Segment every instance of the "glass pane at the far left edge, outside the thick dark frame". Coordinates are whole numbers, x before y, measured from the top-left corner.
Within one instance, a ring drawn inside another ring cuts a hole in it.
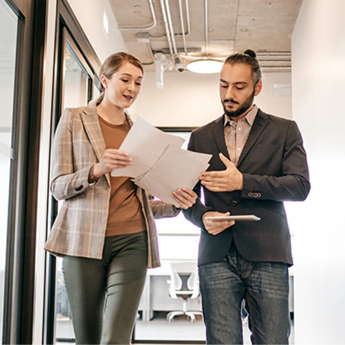
[[[4,0],[0,0],[0,338],[2,339],[4,276],[11,187],[14,72],[16,64],[18,18]]]

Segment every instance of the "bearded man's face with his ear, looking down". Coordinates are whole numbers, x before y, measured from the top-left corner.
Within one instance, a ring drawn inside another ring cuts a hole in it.
[[[220,98],[224,112],[238,121],[245,117],[253,105],[254,96],[262,89],[262,82],[253,86],[250,67],[244,63],[226,63],[220,71]]]

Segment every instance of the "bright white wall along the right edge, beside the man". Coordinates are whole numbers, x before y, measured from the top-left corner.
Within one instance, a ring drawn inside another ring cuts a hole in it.
[[[344,0],[304,0],[292,36],[293,118],[312,185],[292,219],[296,345],[345,343],[344,13]]]

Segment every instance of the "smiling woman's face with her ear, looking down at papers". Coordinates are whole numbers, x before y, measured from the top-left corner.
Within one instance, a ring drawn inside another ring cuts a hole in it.
[[[130,107],[138,97],[142,78],[140,68],[129,62],[124,63],[109,79],[101,76],[105,88],[104,100],[120,109]]]

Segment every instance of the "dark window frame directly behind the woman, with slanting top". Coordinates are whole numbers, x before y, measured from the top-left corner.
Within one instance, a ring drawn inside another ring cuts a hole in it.
[[[69,42],[74,53],[82,62],[83,68],[90,77],[88,81],[88,101],[92,99],[95,81],[98,80],[98,73],[101,62],[93,50],[91,43],[86,37],[70,5],[65,0],[57,1],[56,17],[56,45],[54,58],[54,76],[52,93],[52,119],[51,119],[51,140],[52,141],[59,119],[62,115],[63,107],[63,88],[65,85],[65,54],[66,42]],[[51,161],[49,160],[49,165]],[[47,186],[49,189],[49,186]],[[56,218],[58,203],[49,193],[48,196],[48,214],[47,214],[47,237],[50,228]],[[45,329],[43,331],[43,341],[45,344],[55,344],[56,340],[63,342],[75,342],[75,339],[56,339],[56,318],[55,318],[55,296],[56,296],[56,257],[51,254],[46,255],[47,273],[46,273],[46,298],[45,298]]]

